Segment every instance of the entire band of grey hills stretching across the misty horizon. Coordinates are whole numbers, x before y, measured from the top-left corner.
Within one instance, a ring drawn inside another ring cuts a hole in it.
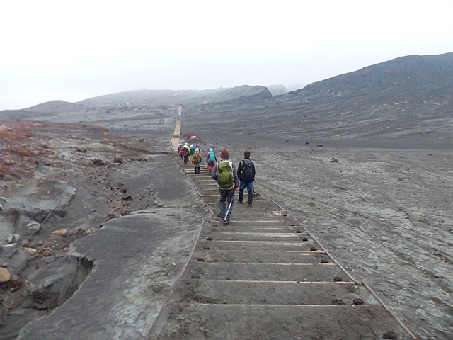
[[[130,91],[77,103],[52,101],[2,111],[1,116],[39,120],[52,115],[52,119],[84,124],[96,123],[96,113],[107,110],[112,120],[133,112],[139,123],[148,119],[147,108],[175,110],[183,104],[188,117],[185,127],[200,133],[210,130],[205,125],[222,124],[227,114],[234,119],[225,128],[238,134],[253,130],[268,137],[285,132],[290,139],[452,140],[453,52],[400,57],[284,92],[284,86],[247,85],[204,91]]]

